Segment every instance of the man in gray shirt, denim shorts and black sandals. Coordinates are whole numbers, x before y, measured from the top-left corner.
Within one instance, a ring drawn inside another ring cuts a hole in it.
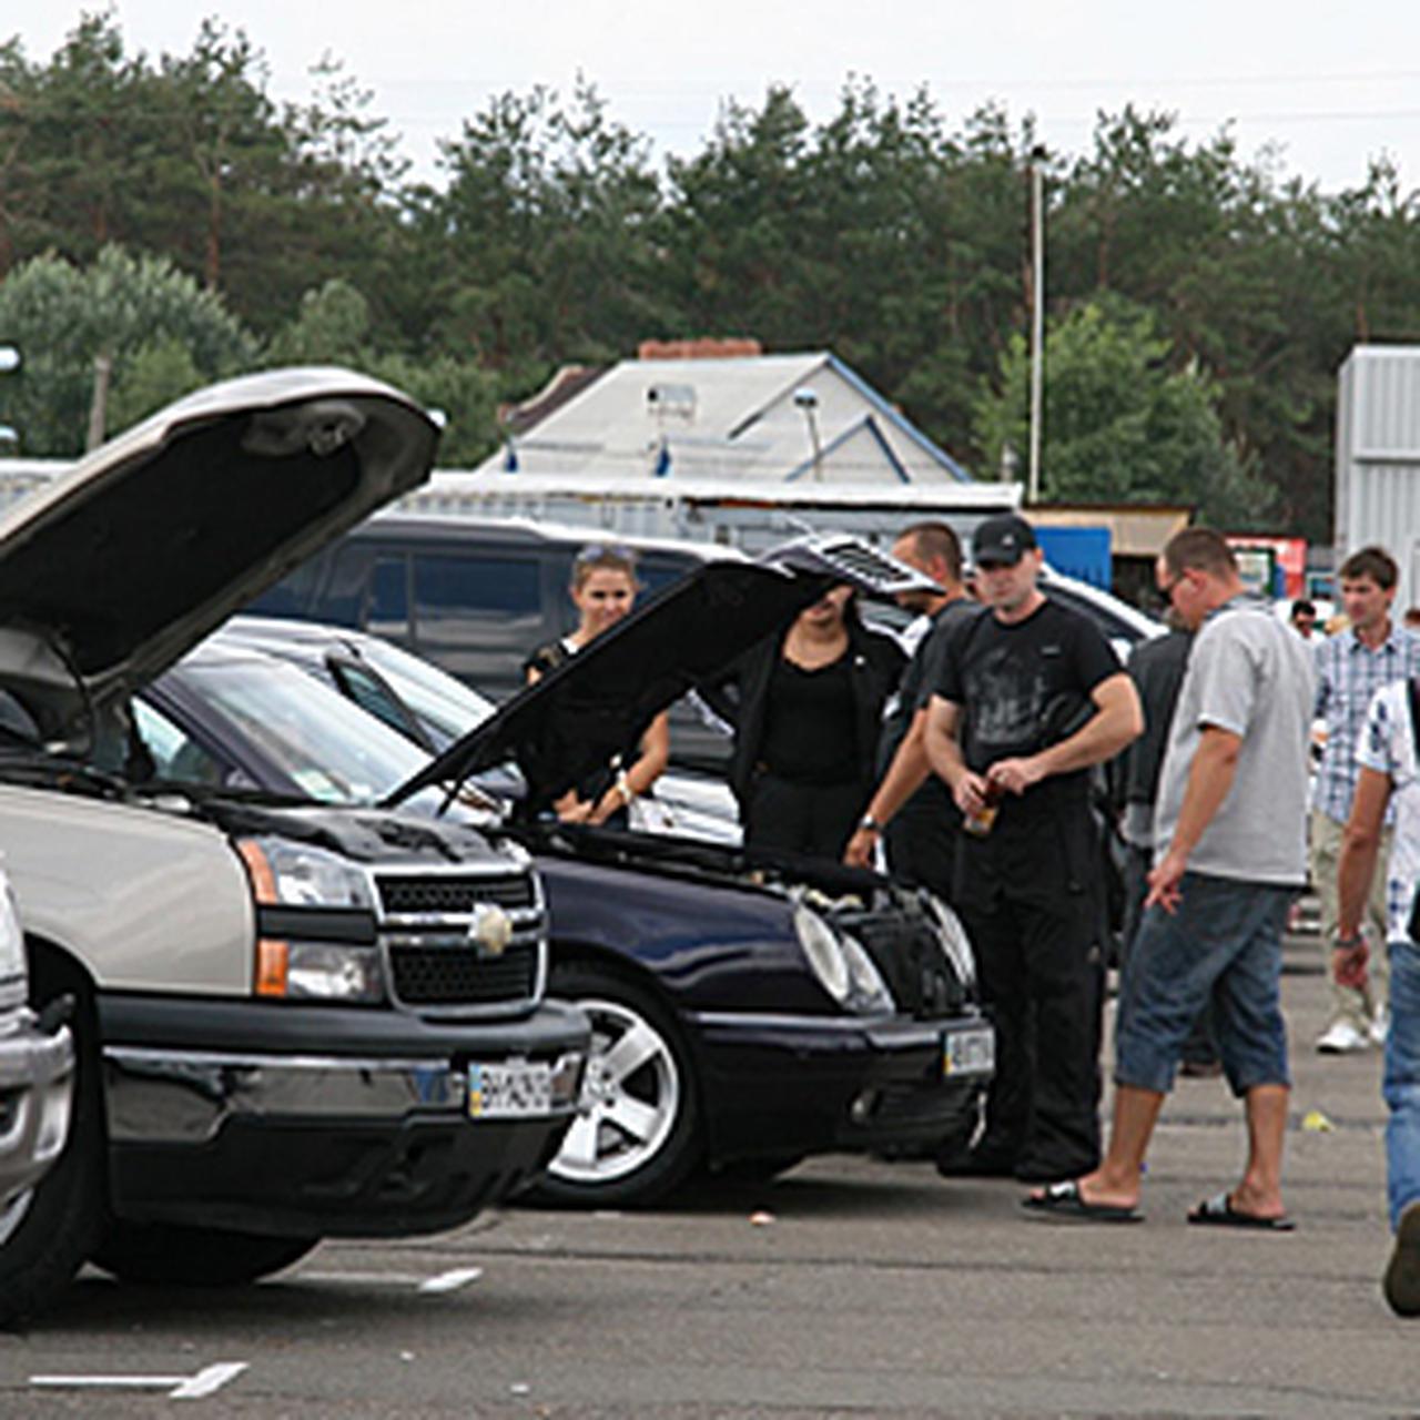
[[[1206,1198],[1189,1221],[1287,1231],[1291,1081],[1279,985],[1287,909],[1306,876],[1311,660],[1244,595],[1217,532],[1170,538],[1156,575],[1180,618],[1201,629],[1164,754],[1149,897],[1120,991],[1115,1125],[1099,1169],[1025,1206],[1139,1218],[1149,1139],[1189,1028],[1211,998],[1223,1069],[1245,1100],[1248,1160],[1237,1187]]]

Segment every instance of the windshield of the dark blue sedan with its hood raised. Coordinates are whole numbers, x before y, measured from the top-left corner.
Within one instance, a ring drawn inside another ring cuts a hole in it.
[[[310,676],[280,662],[187,667],[189,684],[287,778],[322,804],[373,804],[429,755]]]

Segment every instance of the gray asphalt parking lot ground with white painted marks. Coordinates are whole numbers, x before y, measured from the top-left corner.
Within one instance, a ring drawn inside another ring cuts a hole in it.
[[[1322,1058],[1315,937],[1288,943],[1294,1234],[1189,1227],[1242,1154],[1183,1081],[1142,1225],[1032,1218],[1008,1181],[831,1157],[646,1213],[510,1208],[329,1242],[258,1287],[87,1272],[0,1336],[0,1414],[710,1416],[1420,1413],[1420,1323],[1386,1309],[1380,1056]]]

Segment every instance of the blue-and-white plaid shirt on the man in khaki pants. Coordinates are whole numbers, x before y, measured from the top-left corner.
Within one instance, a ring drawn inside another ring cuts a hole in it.
[[[1356,747],[1372,696],[1411,676],[1420,676],[1420,638],[1402,626],[1392,626],[1375,650],[1353,630],[1328,636],[1316,648],[1316,714],[1326,720],[1326,748],[1316,770],[1312,807],[1338,824],[1350,816],[1359,772]]]

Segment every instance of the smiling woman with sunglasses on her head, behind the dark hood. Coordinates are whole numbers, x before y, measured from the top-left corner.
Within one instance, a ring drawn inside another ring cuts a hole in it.
[[[535,684],[577,652],[591,645],[630,612],[640,584],[636,581],[636,557],[630,548],[589,544],[572,562],[569,595],[577,608],[577,629],[561,640],[538,646],[523,663],[528,684]],[[594,733],[589,723],[562,727],[564,736]],[[670,727],[665,711],[656,716],[640,737],[638,750],[625,760],[619,746],[608,744],[596,768],[569,790],[551,799],[551,808],[564,824],[611,824],[623,828],[630,821],[630,807],[649,795],[670,758]]]

